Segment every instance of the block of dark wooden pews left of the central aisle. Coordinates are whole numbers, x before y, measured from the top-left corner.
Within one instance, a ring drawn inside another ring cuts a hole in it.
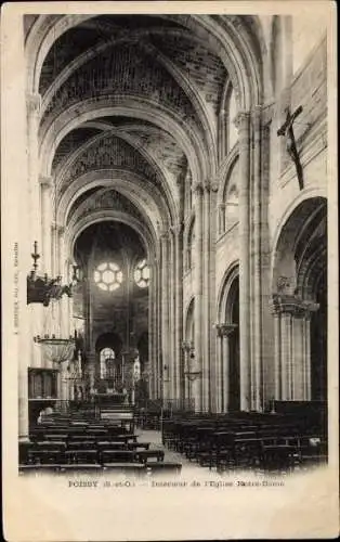
[[[165,452],[140,442],[139,436],[109,422],[54,416],[30,429],[29,442],[19,443],[19,470],[122,472],[181,470],[181,463],[165,462]]]

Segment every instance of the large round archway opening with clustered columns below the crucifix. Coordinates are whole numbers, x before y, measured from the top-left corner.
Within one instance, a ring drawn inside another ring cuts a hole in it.
[[[284,224],[274,264],[276,398],[327,401],[327,201],[301,202]],[[288,345],[288,348],[287,348]]]

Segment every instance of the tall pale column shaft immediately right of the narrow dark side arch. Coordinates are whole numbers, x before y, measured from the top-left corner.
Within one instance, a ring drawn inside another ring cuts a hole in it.
[[[250,184],[250,127],[249,113],[241,112],[236,119],[239,144],[239,358],[240,410],[251,408],[250,360],[250,282],[249,282],[249,184]]]

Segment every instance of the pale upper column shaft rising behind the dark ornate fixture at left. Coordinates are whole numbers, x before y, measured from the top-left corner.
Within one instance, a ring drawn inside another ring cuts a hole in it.
[[[52,273],[52,241],[51,241],[51,222],[52,222],[52,188],[53,181],[51,177],[39,177],[41,191],[41,250],[42,250],[42,269],[49,276]]]

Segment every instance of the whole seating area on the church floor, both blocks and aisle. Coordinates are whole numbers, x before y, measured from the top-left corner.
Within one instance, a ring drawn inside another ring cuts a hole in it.
[[[273,405],[274,406],[274,405]],[[110,420],[91,409],[45,414],[19,444],[19,473],[199,476],[251,470],[286,475],[327,463],[325,414],[301,403],[276,404],[282,413],[171,415],[110,410]],[[287,408],[288,406],[288,408]],[[286,411],[286,412],[285,412]]]

